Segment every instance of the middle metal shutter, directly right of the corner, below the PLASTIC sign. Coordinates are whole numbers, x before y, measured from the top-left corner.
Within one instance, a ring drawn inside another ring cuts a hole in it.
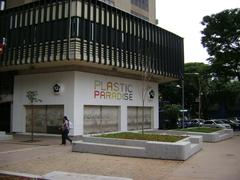
[[[119,107],[84,106],[84,134],[118,131]]]

